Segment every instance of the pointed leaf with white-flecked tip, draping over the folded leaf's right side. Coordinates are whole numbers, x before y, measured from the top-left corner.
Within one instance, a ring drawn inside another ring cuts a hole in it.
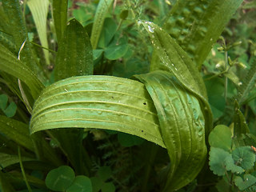
[[[198,97],[207,122],[206,133],[209,133],[213,121],[212,113],[207,102],[206,86],[193,61],[165,30],[153,22],[142,22],[142,24],[150,34],[154,50],[162,61],[158,66],[154,66],[154,70],[165,70],[174,74],[182,86]]]

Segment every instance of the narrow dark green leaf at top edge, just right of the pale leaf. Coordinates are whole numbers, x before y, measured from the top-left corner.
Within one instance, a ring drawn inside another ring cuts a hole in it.
[[[62,34],[66,28],[68,0],[53,1],[54,26],[58,42],[62,40]]]

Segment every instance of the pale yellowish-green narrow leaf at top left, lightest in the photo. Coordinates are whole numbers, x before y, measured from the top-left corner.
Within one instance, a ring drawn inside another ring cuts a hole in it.
[[[29,0],[27,5],[30,7],[34,18],[34,24],[38,30],[40,42],[42,46],[48,49],[46,23],[50,2],[49,0]],[[50,65],[49,51],[44,49],[43,53],[45,54],[46,64]]]

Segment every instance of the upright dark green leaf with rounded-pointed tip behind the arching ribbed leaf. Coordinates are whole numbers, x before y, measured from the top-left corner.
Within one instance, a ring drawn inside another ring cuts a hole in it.
[[[94,58],[86,30],[72,19],[59,43],[55,65],[55,80],[93,74]]]

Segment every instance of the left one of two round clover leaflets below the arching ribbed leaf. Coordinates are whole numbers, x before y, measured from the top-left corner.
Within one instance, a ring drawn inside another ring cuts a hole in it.
[[[46,186],[50,190],[64,191],[74,182],[74,170],[70,166],[59,166],[46,176]]]

